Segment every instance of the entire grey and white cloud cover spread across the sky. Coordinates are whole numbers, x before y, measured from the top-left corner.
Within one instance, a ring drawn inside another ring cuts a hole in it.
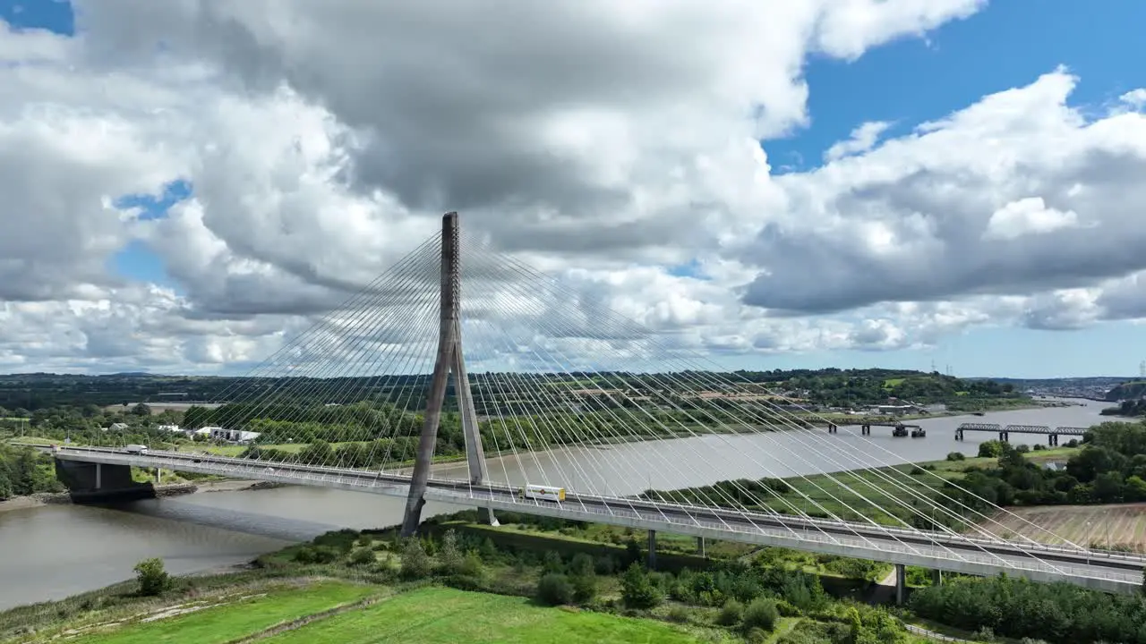
[[[823,167],[772,174],[768,141],[810,123],[809,55],[851,60],[983,0],[74,5],[77,38],[0,23],[3,370],[248,364],[447,210],[474,244],[466,312],[489,368],[1146,314],[1127,277],[1146,269],[1135,92],[1089,119],[1055,70],[897,138],[857,124]],[[162,215],[120,202],[173,181],[191,195]],[[132,243],[170,284],[109,269]],[[477,261],[494,251],[576,293]]]

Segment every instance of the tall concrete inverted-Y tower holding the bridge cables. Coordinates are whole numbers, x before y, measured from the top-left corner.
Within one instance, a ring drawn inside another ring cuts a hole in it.
[[[462,352],[462,322],[458,314],[461,304],[461,270],[458,262],[457,213],[447,212],[441,219],[441,294],[438,320],[438,356],[434,361],[430,394],[426,398],[425,422],[418,440],[418,451],[410,478],[410,494],[406,500],[406,517],[402,535],[410,536],[422,523],[425,505],[426,482],[433,448],[438,440],[441,407],[446,401],[449,377],[454,379],[454,393],[462,416],[462,432],[465,434],[465,457],[470,466],[470,482],[480,485],[486,478],[486,458],[481,449],[481,433],[478,431],[478,414],[473,408],[473,392],[465,372]],[[488,519],[494,523],[493,512]]]

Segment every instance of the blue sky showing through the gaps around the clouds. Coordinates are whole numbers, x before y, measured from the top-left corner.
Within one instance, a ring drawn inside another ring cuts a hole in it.
[[[55,0],[0,0],[0,18],[17,28],[71,33],[70,6]],[[814,57],[806,65],[810,88],[809,128],[782,140],[764,141],[775,172],[807,171],[822,163],[825,150],[869,120],[893,121],[885,136],[910,131],[975,102],[984,94],[1031,83],[1062,64],[1082,77],[1072,100],[1100,108],[1120,94],[1146,86],[1146,47],[1140,0],[1019,0],[992,2],[966,21],[949,23],[926,40],[903,39],[868,52],[854,62]],[[160,195],[124,195],[120,202],[163,217],[193,187],[174,183]],[[160,258],[141,244],[124,249],[111,266],[126,278],[178,288]],[[692,274],[696,267],[674,267]],[[1141,347],[1127,351],[1127,347]],[[976,329],[949,337],[934,350],[833,352],[830,354],[753,356],[745,368],[902,367],[957,375],[1051,377],[1131,375],[1146,359],[1146,327],[1108,323],[1082,331],[1033,331],[1018,328]]]

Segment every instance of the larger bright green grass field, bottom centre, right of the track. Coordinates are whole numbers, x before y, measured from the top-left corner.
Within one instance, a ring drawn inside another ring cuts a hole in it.
[[[672,626],[603,613],[545,608],[528,599],[449,588],[424,588],[267,638],[274,644],[685,644],[696,637]]]

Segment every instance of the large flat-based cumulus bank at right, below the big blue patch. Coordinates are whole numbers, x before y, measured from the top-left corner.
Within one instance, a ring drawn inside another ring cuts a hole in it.
[[[830,313],[1030,296],[1146,268],[1146,116],[1088,120],[1063,69],[869,152],[777,181],[791,207],[741,249],[748,304]]]

